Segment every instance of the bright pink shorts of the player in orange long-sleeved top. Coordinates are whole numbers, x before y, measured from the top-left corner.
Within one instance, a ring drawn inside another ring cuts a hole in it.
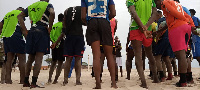
[[[173,52],[187,51],[188,42],[191,35],[191,26],[188,24],[176,27],[169,31],[169,42]]]

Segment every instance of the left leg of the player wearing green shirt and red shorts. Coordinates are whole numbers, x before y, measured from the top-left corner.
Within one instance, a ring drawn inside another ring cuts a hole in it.
[[[142,48],[141,48],[142,42],[141,41],[137,41],[137,40],[132,40],[131,44],[133,46],[133,51],[135,53],[136,69],[138,71],[140,80],[142,82],[141,87],[148,88],[146,80],[145,80],[145,76],[144,76],[144,70],[143,70]]]

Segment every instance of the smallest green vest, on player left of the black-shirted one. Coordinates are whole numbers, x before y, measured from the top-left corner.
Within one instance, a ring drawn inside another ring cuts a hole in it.
[[[50,38],[53,42],[56,42],[60,34],[62,33],[62,22],[57,22],[52,26],[52,30],[50,32]]]

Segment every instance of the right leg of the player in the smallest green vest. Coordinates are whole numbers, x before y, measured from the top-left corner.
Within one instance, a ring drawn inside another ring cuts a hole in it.
[[[58,60],[58,66],[57,66],[57,69],[56,69],[56,76],[55,76],[55,79],[54,79],[52,84],[58,83],[58,78],[59,78],[60,73],[62,71],[62,64],[63,64],[63,61],[62,60]]]

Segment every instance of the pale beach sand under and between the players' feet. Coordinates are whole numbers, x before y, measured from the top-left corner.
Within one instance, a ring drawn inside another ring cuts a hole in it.
[[[91,77],[91,70],[87,71],[86,69],[82,69],[81,74],[81,82],[83,85],[75,86],[75,70],[73,70],[72,77],[69,79],[69,83],[66,86],[62,86],[63,82],[63,72],[59,77],[57,84],[49,84],[47,85],[48,80],[48,70],[41,70],[39,79],[37,84],[42,86],[44,85],[45,88],[34,88],[32,90],[92,90],[95,87],[95,78]],[[169,80],[162,83],[151,83],[152,80],[147,76],[149,74],[149,70],[145,70],[145,78],[147,80],[147,84],[149,90],[200,90],[200,81],[197,81],[197,78],[200,76],[200,68],[192,68],[193,71],[193,78],[194,84],[189,84],[188,87],[175,87],[175,83],[178,82],[179,77],[174,77],[173,80]],[[139,85],[141,84],[139,80],[139,76],[137,74],[136,69],[132,69],[131,72],[131,80],[127,80],[126,78],[126,71],[124,70],[124,77],[119,77],[119,81],[117,82],[118,89],[117,90],[146,90],[141,88]],[[120,75],[120,73],[119,73]],[[32,76],[32,72],[31,72]],[[52,80],[54,80],[55,72],[53,75]],[[0,90],[29,90],[30,88],[24,88],[19,83],[19,71],[12,72],[12,80],[13,84],[0,84]],[[102,90],[114,90],[111,87],[111,79],[107,69],[104,69],[103,73],[103,83],[102,83]],[[31,81],[31,80],[30,80]]]

